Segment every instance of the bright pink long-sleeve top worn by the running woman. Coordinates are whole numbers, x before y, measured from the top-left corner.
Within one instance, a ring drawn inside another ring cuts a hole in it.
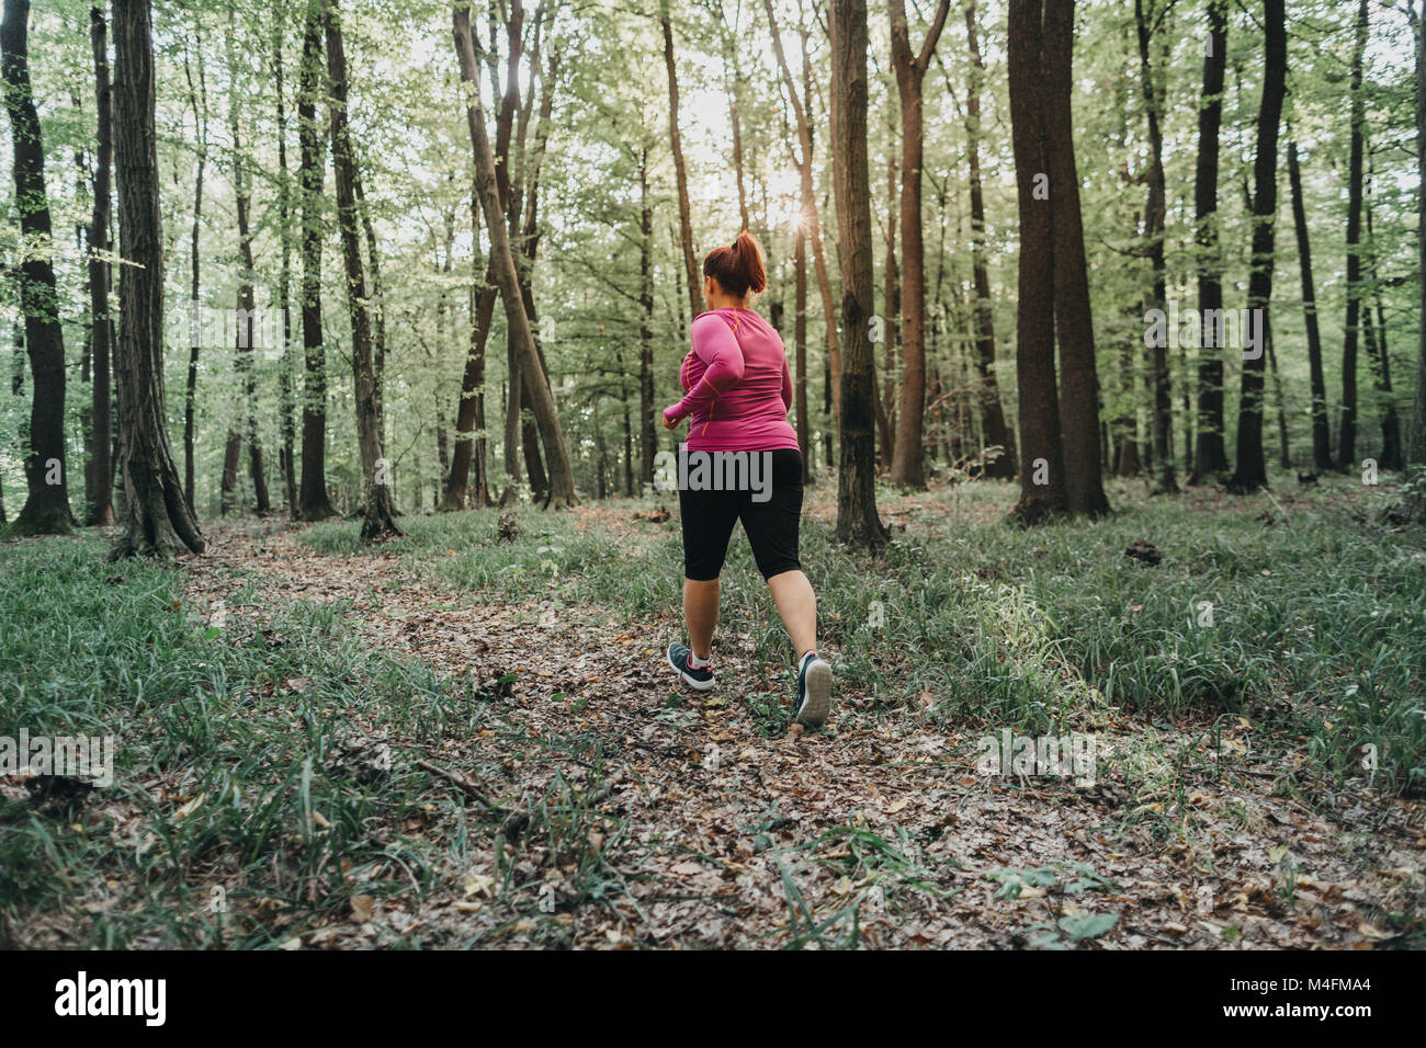
[[[663,416],[677,422],[692,415],[689,451],[799,449],[797,431],[787,423],[793,404],[787,348],[752,309],[699,314],[679,381],[683,399]]]

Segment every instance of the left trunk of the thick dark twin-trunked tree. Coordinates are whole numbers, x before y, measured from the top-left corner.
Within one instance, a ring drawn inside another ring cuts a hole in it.
[[[1020,202],[1015,365],[1020,385],[1020,502],[1011,519],[1040,523],[1065,509],[1060,398],[1055,385],[1054,217],[1045,155],[1047,96],[1041,0],[1011,0],[1010,120]]]

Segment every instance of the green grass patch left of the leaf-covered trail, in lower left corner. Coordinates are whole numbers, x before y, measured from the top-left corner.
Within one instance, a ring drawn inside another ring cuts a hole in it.
[[[0,800],[0,942],[50,908],[73,917],[68,945],[261,947],[352,894],[429,883],[439,848],[402,833],[425,773],[398,764],[371,790],[344,754],[355,723],[442,734],[443,683],[309,603],[210,627],[177,570],[103,553],[96,536],[4,550],[0,734],[110,734],[117,771],[83,821]]]

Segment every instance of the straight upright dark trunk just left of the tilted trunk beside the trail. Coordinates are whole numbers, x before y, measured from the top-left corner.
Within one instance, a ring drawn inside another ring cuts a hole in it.
[[[307,0],[298,81],[298,184],[302,194],[302,520],[335,516],[327,493],[327,346],[322,338],[322,183],[327,137],[317,104],[327,97],[322,70],[322,0]]]

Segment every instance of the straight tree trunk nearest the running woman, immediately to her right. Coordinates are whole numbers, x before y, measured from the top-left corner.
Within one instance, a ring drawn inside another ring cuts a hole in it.
[[[843,0],[829,10],[831,34],[833,190],[841,264],[840,472],[837,540],[878,546],[887,530],[877,515],[876,408],[870,321],[871,181],[867,168],[867,4]]]

